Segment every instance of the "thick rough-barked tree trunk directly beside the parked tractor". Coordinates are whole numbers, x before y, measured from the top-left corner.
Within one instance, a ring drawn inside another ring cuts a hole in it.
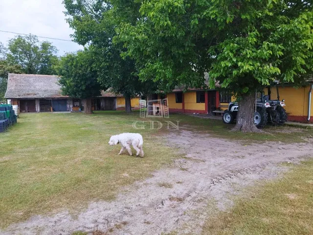
[[[242,96],[238,102],[238,114],[236,126],[231,131],[262,132],[254,124],[255,94]]]

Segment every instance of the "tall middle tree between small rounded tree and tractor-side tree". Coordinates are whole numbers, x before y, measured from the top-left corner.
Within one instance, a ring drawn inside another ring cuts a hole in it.
[[[113,8],[112,3],[121,7]],[[97,58],[99,82],[114,93],[123,94],[126,112],[131,112],[131,97],[142,94],[142,88],[147,86],[139,81],[134,60],[125,54],[127,49],[113,42],[113,38],[120,22],[135,24],[139,4],[128,0],[64,0],[64,4],[67,22],[75,31],[74,41],[90,45]]]

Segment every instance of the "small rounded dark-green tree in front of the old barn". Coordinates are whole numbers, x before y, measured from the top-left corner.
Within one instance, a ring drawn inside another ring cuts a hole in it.
[[[94,69],[94,57],[89,49],[61,57],[58,73],[63,94],[84,100],[85,114],[92,114],[91,98],[100,96],[101,87]]]

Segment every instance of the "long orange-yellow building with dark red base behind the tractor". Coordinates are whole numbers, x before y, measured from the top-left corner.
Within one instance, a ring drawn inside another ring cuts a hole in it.
[[[208,81],[205,81],[208,83]],[[207,84],[206,84],[207,85]],[[218,87],[218,85],[217,85]],[[278,91],[278,95],[277,95]],[[310,102],[310,91],[313,92],[313,80],[299,88],[289,85],[278,85],[266,88],[265,94],[271,99],[285,99],[288,120],[299,122],[313,122],[313,101]],[[230,93],[221,92],[215,89],[188,89],[183,93],[182,87],[176,87],[173,92],[167,94],[170,113],[200,113],[214,114],[223,113],[228,108],[228,103],[236,98]],[[310,108],[309,108],[310,103]]]

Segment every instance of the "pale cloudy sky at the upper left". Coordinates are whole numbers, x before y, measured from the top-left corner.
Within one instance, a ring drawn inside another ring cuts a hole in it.
[[[62,0],[0,1],[0,30],[71,40],[70,34],[73,30],[65,20]],[[12,33],[0,32],[0,42],[6,46],[7,41],[15,36]],[[74,42],[38,39],[51,42],[58,48],[58,55],[83,48]]]

